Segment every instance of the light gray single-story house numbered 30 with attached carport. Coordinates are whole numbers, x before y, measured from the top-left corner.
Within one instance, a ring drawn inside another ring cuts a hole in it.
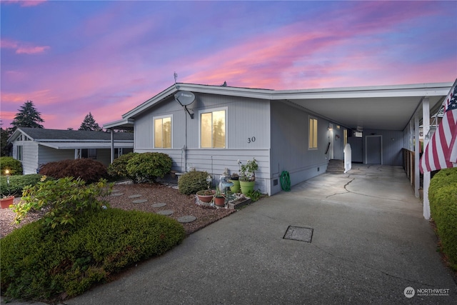
[[[323,174],[330,159],[344,158],[346,143],[353,161],[401,165],[402,149],[413,147],[411,120],[425,99],[427,111],[439,105],[451,85],[276,91],[175,84],[104,128],[134,128],[135,152],[160,151],[174,170],[193,167],[216,179],[226,168],[238,172],[237,160],[255,158],[256,189],[271,195],[281,191],[282,171],[292,186]]]

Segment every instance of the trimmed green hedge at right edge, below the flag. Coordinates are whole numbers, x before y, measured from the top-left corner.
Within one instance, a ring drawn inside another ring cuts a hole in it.
[[[457,270],[457,168],[441,169],[433,176],[428,199],[442,251]]]

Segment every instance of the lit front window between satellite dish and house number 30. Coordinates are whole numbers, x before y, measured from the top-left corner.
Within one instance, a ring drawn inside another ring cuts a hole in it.
[[[226,148],[226,110],[202,112],[200,114],[201,148]]]

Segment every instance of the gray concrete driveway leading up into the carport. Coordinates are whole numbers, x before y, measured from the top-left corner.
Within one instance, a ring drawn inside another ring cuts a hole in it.
[[[403,169],[353,166],[261,199],[65,304],[456,304]]]

